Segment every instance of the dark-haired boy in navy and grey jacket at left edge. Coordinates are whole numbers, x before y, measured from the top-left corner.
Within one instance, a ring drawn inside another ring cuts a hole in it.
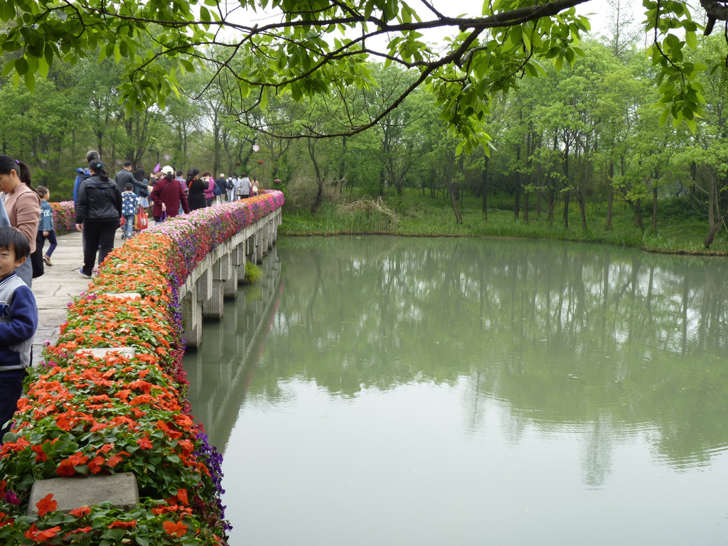
[[[15,274],[30,253],[28,239],[17,228],[0,227],[0,445],[23,394],[38,328],[36,298]]]

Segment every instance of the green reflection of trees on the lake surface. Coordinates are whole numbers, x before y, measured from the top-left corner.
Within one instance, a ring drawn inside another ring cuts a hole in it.
[[[266,272],[186,357],[193,413],[221,448],[246,397],[274,403],[292,379],[343,398],[464,381],[467,430],[496,401],[515,442],[529,425],[582,432],[588,486],[644,431],[676,468],[728,445],[724,260],[338,237],[281,239]]]

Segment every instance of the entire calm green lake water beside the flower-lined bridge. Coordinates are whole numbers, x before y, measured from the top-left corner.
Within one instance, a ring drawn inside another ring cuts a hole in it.
[[[185,357],[231,546],[728,544],[728,260],[329,237],[264,269]]]

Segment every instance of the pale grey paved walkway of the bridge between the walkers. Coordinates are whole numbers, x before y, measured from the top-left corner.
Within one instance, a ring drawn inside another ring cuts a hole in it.
[[[122,245],[121,230],[114,237],[114,248]],[[45,250],[48,250],[46,242]],[[33,338],[33,365],[40,360],[43,342],[55,343],[60,325],[66,322],[68,303],[88,288],[90,279],[76,271],[83,265],[81,232],[58,237],[58,248],[51,256],[52,266],[45,266],[45,273],[33,279],[33,294],[38,304],[38,330]]]

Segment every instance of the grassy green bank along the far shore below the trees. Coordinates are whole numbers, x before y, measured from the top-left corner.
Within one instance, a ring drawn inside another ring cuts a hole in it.
[[[352,198],[355,199],[355,198]],[[711,248],[703,248],[708,233],[707,219],[676,199],[658,205],[657,230],[652,229],[651,212],[646,212],[644,232],[633,226],[632,211],[615,204],[612,229],[606,225],[606,205],[587,209],[587,229],[576,204],[569,210],[569,227],[563,226],[563,205],[555,209],[554,221],[547,220],[545,205],[538,213],[535,203],[518,218],[513,212],[513,197],[490,199],[488,215],[481,211],[480,199],[464,197],[459,203],[462,223],[456,223],[449,200],[405,192],[402,199],[385,194],[377,199],[356,199],[348,203],[325,203],[316,215],[308,210],[285,210],[281,235],[391,234],[405,237],[514,237],[534,240],[600,242],[648,252],[728,256],[728,232],[722,229]]]

